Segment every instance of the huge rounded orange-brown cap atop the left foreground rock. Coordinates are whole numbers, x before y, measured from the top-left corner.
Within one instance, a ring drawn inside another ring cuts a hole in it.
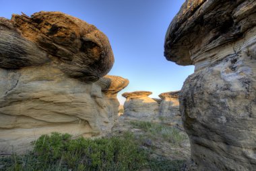
[[[94,25],[65,13],[40,11],[31,17],[1,18],[0,31],[2,68],[40,65],[51,59],[57,61],[55,63],[65,74],[95,81],[107,74],[114,63],[108,38]],[[21,44],[22,41],[26,44]],[[42,52],[35,49],[33,55],[31,44]],[[15,53],[9,52],[13,50]],[[45,60],[35,62],[34,58],[39,58],[37,53],[43,52],[50,57],[44,55]]]

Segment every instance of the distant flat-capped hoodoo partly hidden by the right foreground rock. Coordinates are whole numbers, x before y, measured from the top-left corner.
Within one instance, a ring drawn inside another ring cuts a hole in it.
[[[159,107],[159,116],[164,123],[182,127],[181,113],[179,111],[179,92],[171,91],[159,95],[162,99]]]

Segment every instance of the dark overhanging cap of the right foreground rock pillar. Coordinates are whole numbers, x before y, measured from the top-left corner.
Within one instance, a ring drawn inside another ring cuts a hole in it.
[[[180,65],[203,60],[198,56],[238,38],[253,25],[256,1],[187,0],[170,23],[164,56]]]

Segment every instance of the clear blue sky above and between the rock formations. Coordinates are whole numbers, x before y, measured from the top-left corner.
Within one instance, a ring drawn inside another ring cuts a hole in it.
[[[194,66],[178,66],[164,57],[164,36],[185,0],[0,0],[0,17],[12,13],[61,11],[104,32],[115,55],[108,74],[128,78],[124,92],[152,91],[150,97],[180,90]]]

